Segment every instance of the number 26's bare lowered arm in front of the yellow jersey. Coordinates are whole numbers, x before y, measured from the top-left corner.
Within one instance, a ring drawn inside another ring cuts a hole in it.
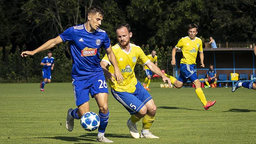
[[[114,52],[112,51],[111,45],[105,50],[106,50],[109,62],[112,64],[112,66],[115,69],[114,77],[116,78],[117,83],[118,84],[123,83],[124,77],[122,76],[122,74],[118,68],[118,65],[116,62],[116,56],[115,56]]]

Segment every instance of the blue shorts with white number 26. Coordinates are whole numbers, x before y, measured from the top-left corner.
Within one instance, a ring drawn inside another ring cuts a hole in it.
[[[97,93],[108,93],[108,86],[103,73],[96,76],[88,76],[84,79],[73,79],[73,91],[76,106],[79,106],[90,100]]]

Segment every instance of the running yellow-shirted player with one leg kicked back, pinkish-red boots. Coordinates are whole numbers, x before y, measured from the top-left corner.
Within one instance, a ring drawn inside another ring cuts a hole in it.
[[[204,109],[208,110],[211,106],[214,105],[214,101],[206,101],[204,92],[201,89],[201,83],[196,76],[195,64],[197,51],[200,53],[200,64],[204,68],[204,53],[202,47],[202,40],[196,37],[198,28],[196,24],[188,25],[188,36],[182,37],[178,44],[172,49],[172,65],[176,65],[175,54],[178,49],[181,49],[183,58],[180,60],[180,77],[177,80],[173,76],[168,76],[171,79],[172,84],[176,88],[181,88],[183,84],[187,83],[188,79],[193,82],[196,86],[196,95],[201,100],[204,105]]]

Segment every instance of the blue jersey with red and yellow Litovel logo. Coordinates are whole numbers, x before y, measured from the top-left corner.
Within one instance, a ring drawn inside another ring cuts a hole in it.
[[[103,72],[100,66],[100,47],[109,48],[110,40],[104,30],[88,32],[84,25],[70,27],[60,34],[64,42],[70,42],[72,78],[83,79]]]

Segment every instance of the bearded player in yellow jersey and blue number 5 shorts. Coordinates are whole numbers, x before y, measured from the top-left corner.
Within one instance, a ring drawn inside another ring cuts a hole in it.
[[[131,28],[128,24],[116,26],[116,35],[119,41],[118,44],[112,46],[112,50],[116,55],[117,65],[120,68],[124,81],[118,84],[114,79],[114,68],[108,60],[107,55],[101,60],[100,65],[103,68],[104,75],[108,80],[111,88],[111,93],[114,98],[121,103],[124,108],[130,113],[131,118],[127,121],[129,131],[134,138],[159,138],[149,132],[149,128],[155,120],[156,105],[152,96],[136,79],[134,67],[136,63],[147,66],[157,75],[163,78],[163,81],[171,81],[168,77],[164,76],[161,70],[152,63],[144,54],[142,49],[130,43],[132,37]],[[107,66],[109,66],[107,70]],[[138,132],[136,122],[142,120],[141,134]]]

